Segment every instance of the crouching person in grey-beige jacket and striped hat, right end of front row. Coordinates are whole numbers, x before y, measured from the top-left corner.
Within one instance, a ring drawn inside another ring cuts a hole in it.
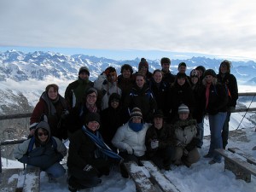
[[[172,137],[176,145],[174,164],[177,166],[184,164],[189,167],[200,159],[196,148],[200,142],[196,125],[196,120],[189,118],[188,106],[181,104],[178,108],[178,119],[172,125]]]

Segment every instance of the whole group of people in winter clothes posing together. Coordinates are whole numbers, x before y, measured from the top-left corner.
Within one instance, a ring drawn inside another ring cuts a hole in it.
[[[171,164],[190,167],[200,159],[208,115],[211,144],[204,157],[212,159],[211,165],[221,162],[214,149],[228,143],[230,113],[238,98],[231,62],[222,61],[218,74],[198,66],[189,76],[185,62],[176,75],[169,58],[163,57],[160,65],[150,73],[142,58],[136,73],[125,64],[119,76],[107,67],[94,82],[89,68],[81,67],[64,97],[58,85],[47,85],[32,112],[29,139],[15,148],[15,158],[49,177],[61,177],[65,169],[60,161],[67,154],[62,141],[68,138],[70,191],[96,186],[115,165],[129,177],[124,166],[129,160],[138,165],[152,160],[165,170]]]

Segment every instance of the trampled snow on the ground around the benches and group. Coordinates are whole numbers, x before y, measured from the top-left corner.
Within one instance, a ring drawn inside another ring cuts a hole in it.
[[[247,126],[247,128],[231,131],[228,147],[238,147],[247,154],[256,158],[255,127]],[[205,137],[204,145],[200,149],[200,154],[207,154],[209,148],[209,137]],[[186,166],[172,166],[172,171],[162,171],[166,177],[172,180],[181,192],[255,192],[256,177],[252,176],[252,182],[246,183],[243,180],[237,180],[235,175],[230,171],[224,171],[224,160],[220,164],[210,166],[209,159],[201,158],[201,160],[190,168]],[[6,167],[23,167],[17,161],[3,160],[3,168]],[[42,192],[66,192],[66,177],[62,177],[59,183],[48,183],[48,177],[41,172],[41,189]],[[131,179],[125,179],[120,176],[117,169],[114,169],[108,177],[102,177],[102,184],[93,189],[95,192],[132,192],[136,191],[135,184]]]

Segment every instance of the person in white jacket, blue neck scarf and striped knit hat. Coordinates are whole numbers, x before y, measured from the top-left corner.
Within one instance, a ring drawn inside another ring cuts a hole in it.
[[[131,119],[119,127],[116,131],[112,143],[113,146],[119,148],[119,155],[124,161],[133,160],[140,166],[140,160],[145,158],[146,145],[145,137],[148,127],[151,124],[143,123],[143,113],[140,108],[131,110]],[[125,167],[120,165],[120,172],[123,177],[128,177]]]

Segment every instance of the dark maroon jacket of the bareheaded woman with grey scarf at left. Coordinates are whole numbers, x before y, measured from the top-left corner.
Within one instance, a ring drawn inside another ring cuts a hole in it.
[[[45,114],[48,118],[51,135],[59,139],[67,139],[67,113],[67,102],[60,94],[58,94],[57,101],[51,101],[44,91],[32,112],[30,129],[35,128],[34,125],[36,125]]]

